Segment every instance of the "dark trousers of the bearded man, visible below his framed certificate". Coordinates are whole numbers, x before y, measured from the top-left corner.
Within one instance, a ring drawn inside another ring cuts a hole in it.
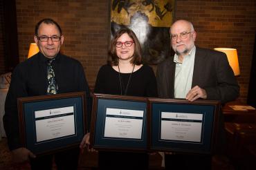
[[[165,169],[212,169],[211,155],[165,154]]]

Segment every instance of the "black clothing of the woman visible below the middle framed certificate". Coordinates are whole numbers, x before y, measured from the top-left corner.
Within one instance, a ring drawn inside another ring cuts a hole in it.
[[[149,169],[147,153],[99,151],[99,169]]]

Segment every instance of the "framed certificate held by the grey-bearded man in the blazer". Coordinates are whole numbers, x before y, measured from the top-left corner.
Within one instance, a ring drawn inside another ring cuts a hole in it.
[[[149,146],[156,151],[212,153],[218,101],[149,98]]]

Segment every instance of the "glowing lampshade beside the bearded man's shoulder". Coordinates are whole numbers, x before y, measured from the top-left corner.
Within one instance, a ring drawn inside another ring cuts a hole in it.
[[[228,63],[231,66],[235,75],[240,75],[239,62],[237,57],[237,49],[235,48],[214,48],[214,50],[219,50],[226,53],[228,57]]]

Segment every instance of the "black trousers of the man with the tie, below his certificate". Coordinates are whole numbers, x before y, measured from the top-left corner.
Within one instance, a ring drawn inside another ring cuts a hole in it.
[[[58,170],[77,169],[80,149],[68,149],[60,151],[53,155],[42,155],[37,158],[30,159],[31,169],[35,170],[51,170],[53,167],[53,158]]]

